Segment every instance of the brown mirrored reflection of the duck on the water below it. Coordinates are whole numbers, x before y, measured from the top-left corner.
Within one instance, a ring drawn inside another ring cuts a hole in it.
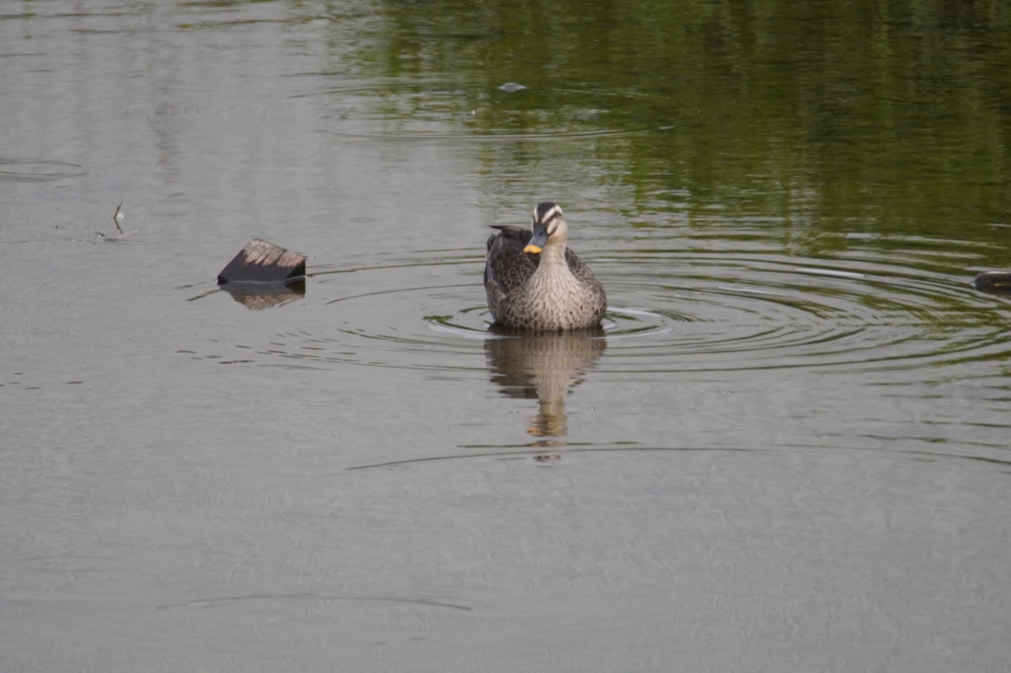
[[[507,337],[484,341],[491,380],[501,386],[502,395],[538,400],[538,413],[527,432],[535,437],[567,435],[565,396],[604,354],[608,347],[604,330],[550,334],[516,334],[496,328],[491,331]]]

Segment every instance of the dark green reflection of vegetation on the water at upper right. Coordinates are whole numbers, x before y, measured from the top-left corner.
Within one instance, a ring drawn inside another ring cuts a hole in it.
[[[846,247],[819,235],[833,232],[1006,236],[989,226],[1011,220],[1005,2],[377,7],[363,75],[445,93],[387,114],[475,135],[605,133],[481,147],[489,181],[624,188],[614,207],[638,223],[796,227],[802,254]],[[497,89],[514,81],[529,89]],[[622,131],[639,134],[606,135]]]

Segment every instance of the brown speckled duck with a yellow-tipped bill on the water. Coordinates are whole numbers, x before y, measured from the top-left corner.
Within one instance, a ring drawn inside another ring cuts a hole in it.
[[[498,233],[487,242],[484,291],[496,326],[531,332],[600,326],[607,293],[568,247],[568,225],[558,204],[538,204],[530,229],[492,228]]]

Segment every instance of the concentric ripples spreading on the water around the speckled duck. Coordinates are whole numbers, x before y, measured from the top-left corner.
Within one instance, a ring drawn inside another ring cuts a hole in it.
[[[1011,350],[1011,305],[938,273],[697,253],[591,263],[611,302],[603,330],[586,336],[607,342],[593,356],[598,371],[851,372],[1003,358]],[[461,265],[474,272],[461,274]],[[415,266],[433,262],[419,252],[392,264],[316,271],[307,297],[332,313],[333,328],[275,335],[241,361],[486,375],[487,342],[516,337],[489,330],[480,257],[434,264],[445,283],[421,287],[411,283]],[[363,274],[358,287],[374,290],[341,294],[340,278],[350,271]],[[237,361],[224,358],[218,361]]]

